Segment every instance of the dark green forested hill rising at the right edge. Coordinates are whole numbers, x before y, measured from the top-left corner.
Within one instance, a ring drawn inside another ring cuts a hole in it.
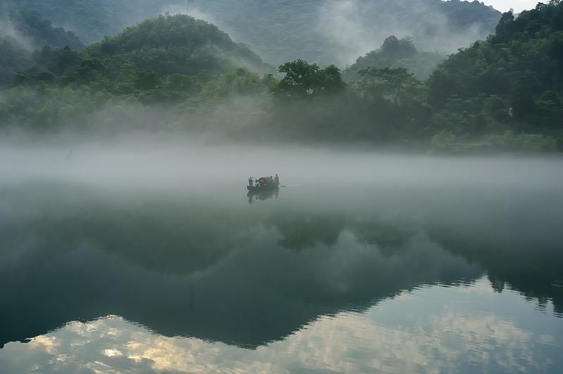
[[[505,13],[495,35],[450,56],[428,87],[429,103],[450,128],[488,113],[517,130],[561,130],[563,3],[538,4],[518,18]]]

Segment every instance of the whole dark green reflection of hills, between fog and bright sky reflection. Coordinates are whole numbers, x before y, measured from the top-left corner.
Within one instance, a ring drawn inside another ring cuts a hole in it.
[[[460,215],[460,204],[444,204],[405,216],[393,204],[334,213],[243,199],[225,206],[32,192],[0,195],[13,212],[0,221],[9,306],[0,311],[1,344],[117,314],[163,335],[257,347],[318,316],[362,310],[422,284],[474,280],[485,270],[497,286],[553,299],[559,310],[563,304],[550,286],[561,275],[563,254],[551,244],[562,231],[542,231],[505,211],[464,206]],[[491,218],[513,226],[494,230]]]

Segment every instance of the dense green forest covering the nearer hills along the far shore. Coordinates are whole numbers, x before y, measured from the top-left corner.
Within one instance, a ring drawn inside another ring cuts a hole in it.
[[[413,67],[434,57],[391,36],[344,72],[303,59],[274,72],[217,27],[161,15],[83,51],[44,47],[0,116],[4,130],[127,125],[239,141],[562,150],[560,1],[505,13],[493,35],[430,75]]]

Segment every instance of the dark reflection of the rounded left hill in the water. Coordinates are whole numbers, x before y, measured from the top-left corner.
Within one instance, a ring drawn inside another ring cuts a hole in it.
[[[128,203],[61,186],[24,193],[42,213],[23,225],[3,225],[5,243],[13,239],[17,245],[25,236],[45,251],[90,246],[161,273],[191,273],[213,266],[248,235],[244,217],[213,205],[174,199],[143,203],[142,197]]]

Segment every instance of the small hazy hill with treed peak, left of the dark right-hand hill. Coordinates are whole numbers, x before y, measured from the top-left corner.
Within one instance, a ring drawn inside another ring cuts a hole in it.
[[[391,36],[385,39],[381,48],[359,57],[353,65],[343,71],[347,82],[360,80],[358,72],[366,68],[405,68],[418,79],[424,80],[436,69],[438,63],[446,58],[438,52],[421,52],[412,39],[397,39]]]

